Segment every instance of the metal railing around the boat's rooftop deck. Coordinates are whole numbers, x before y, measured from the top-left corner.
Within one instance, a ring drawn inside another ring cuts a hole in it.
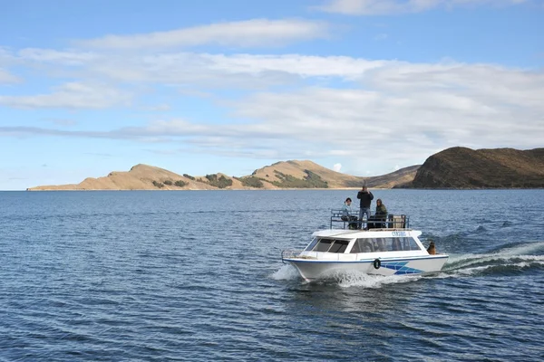
[[[366,216],[366,214],[364,214]],[[363,220],[358,215],[346,214],[342,209],[332,209],[330,217],[331,229],[409,229],[410,217],[407,214],[371,214]]]

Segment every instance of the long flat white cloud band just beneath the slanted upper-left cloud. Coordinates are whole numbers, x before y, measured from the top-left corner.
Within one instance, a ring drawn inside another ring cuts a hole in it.
[[[47,50],[33,52],[48,54]],[[68,59],[83,62],[79,52],[61,52],[58,62],[54,57],[25,57],[19,52],[21,62],[53,67],[52,73],[65,71]],[[80,71],[71,75],[89,79],[101,78],[127,82],[161,82],[182,84],[194,82],[204,87],[263,88],[286,84],[311,77],[340,77],[353,81],[366,71],[383,67],[386,61],[368,61],[345,56],[307,56],[299,54],[252,55],[209,54],[192,52],[160,52],[158,54],[131,54],[110,52],[94,54],[86,59]],[[83,64],[81,64],[83,65]],[[56,69],[54,68],[56,66]],[[198,91],[191,89],[192,91]]]

